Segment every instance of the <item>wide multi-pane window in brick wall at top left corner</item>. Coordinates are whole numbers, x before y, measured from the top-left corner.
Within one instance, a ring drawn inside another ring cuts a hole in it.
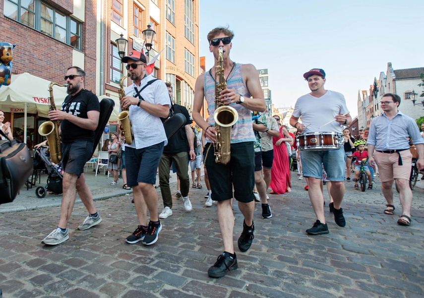
[[[81,50],[81,23],[41,0],[4,0],[3,15]]]

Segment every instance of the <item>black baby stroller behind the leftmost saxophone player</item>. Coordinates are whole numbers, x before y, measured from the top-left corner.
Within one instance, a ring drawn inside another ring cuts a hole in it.
[[[52,163],[50,162],[50,154],[47,153],[46,147],[37,148],[36,150],[36,154],[38,153],[39,157],[44,161],[49,176],[47,177],[46,186],[38,186],[35,189],[35,195],[38,198],[44,198],[47,194],[47,191],[52,191],[55,194],[61,194],[63,192],[63,175],[61,174],[61,163],[55,166],[52,165]]]

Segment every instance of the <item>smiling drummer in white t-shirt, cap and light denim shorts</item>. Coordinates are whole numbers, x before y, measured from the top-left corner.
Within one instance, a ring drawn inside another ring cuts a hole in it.
[[[301,96],[295,105],[295,110],[290,118],[290,124],[303,133],[329,134],[330,136],[342,131],[341,125],[348,125],[352,118],[346,107],[343,94],[325,90],[325,72],[323,69],[314,68],[303,74],[310,93]],[[302,122],[299,122],[302,118]],[[329,121],[333,120],[329,123]],[[331,140],[333,138],[331,137]],[[318,147],[321,140],[313,140]],[[338,143],[337,141],[335,143]],[[340,142],[342,143],[342,142]],[[312,146],[315,147],[315,146]],[[325,146],[321,146],[325,147]],[[324,196],[320,184],[322,178],[322,165],[324,165],[327,179],[331,181],[330,193],[334,203],[330,203],[330,210],[334,213],[334,221],[340,227],[346,225],[341,203],[345,194],[345,153],[343,146],[340,149],[314,149],[305,148],[302,151],[303,176],[308,177],[309,199],[316,215],[313,227],[306,230],[307,234],[328,234],[328,227],[324,217]]]

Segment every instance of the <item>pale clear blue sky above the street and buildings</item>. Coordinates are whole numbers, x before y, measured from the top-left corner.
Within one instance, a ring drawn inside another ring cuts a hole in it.
[[[387,62],[424,66],[423,11],[424,0],[200,0],[200,56],[213,66],[206,36],[229,26],[230,58],[268,68],[275,107],[294,107],[309,92],[303,73],[316,67],[327,73],[325,88],[343,93],[357,116],[358,91]]]

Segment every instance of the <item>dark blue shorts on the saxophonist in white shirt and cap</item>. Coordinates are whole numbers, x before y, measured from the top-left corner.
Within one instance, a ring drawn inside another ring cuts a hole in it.
[[[138,182],[156,184],[156,170],[163,151],[164,142],[141,149],[125,147],[125,159],[128,163],[128,167],[126,167],[128,186],[137,186]]]

